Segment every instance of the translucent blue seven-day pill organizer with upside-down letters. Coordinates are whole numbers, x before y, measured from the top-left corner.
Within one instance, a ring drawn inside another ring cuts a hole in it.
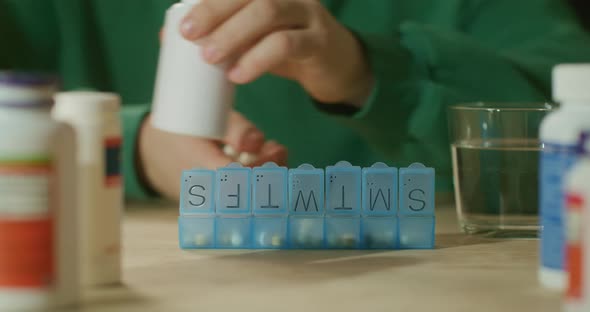
[[[432,249],[434,179],[434,169],[419,163],[186,170],[180,247]]]

